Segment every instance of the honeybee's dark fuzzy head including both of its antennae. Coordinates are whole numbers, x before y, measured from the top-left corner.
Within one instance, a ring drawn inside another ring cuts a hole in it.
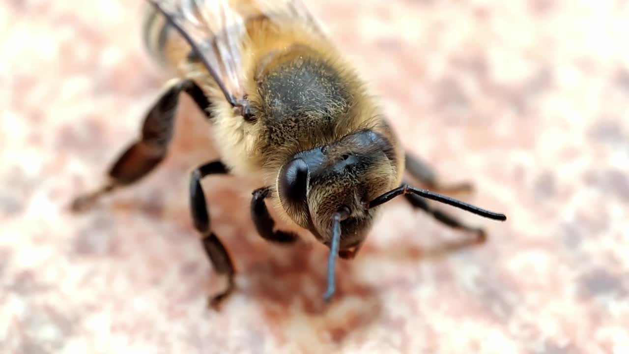
[[[379,205],[404,194],[437,200],[494,220],[498,214],[454,198],[408,185],[399,186],[394,149],[373,130],[361,130],[328,146],[298,152],[280,169],[277,190],[282,207],[330,248],[328,288],[334,292],[335,258],[352,257],[365,241]]]

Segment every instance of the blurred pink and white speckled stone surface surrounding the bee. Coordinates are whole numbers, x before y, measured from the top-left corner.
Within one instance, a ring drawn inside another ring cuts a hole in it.
[[[0,4],[2,353],[628,353],[629,3],[309,2],[408,148],[505,212],[479,248],[392,202],[338,297],[326,251],[265,243],[252,186],[204,181],[238,268],[222,283],[187,208],[216,152],[191,101],[171,153],[136,188],[70,214],[138,132],[165,77],[139,0]]]

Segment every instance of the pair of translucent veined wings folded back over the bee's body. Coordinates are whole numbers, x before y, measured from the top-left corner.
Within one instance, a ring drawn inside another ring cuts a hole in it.
[[[296,20],[320,35],[321,26],[300,0],[148,0],[191,45],[228,101],[244,94],[242,40],[246,21]]]

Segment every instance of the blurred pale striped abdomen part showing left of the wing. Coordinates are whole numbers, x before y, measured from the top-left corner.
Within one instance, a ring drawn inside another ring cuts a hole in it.
[[[148,54],[162,65],[167,64],[165,47],[173,30],[172,25],[154,6],[149,4],[145,7],[142,39]]]

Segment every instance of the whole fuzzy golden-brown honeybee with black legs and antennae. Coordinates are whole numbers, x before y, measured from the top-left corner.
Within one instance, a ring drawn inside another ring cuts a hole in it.
[[[506,220],[445,194],[469,191],[467,183],[443,185],[420,159],[404,152],[364,80],[331,37],[297,0],[149,0],[143,35],[148,52],[174,81],[148,110],[140,137],[109,169],[108,181],[75,198],[86,210],[100,197],[135,183],[167,155],[181,93],[205,113],[220,159],[191,173],[192,221],[214,269],[225,275],[213,307],[234,288],[235,270],[212,232],[201,179],[213,174],[254,177],[251,216],[261,237],[276,243],[298,239],[276,229],[270,207],[329,248],[326,290],[335,292],[337,257],[359,252],[380,210],[404,195],[443,224],[470,227],[428,200],[482,217]],[[428,189],[409,186],[408,172]]]

